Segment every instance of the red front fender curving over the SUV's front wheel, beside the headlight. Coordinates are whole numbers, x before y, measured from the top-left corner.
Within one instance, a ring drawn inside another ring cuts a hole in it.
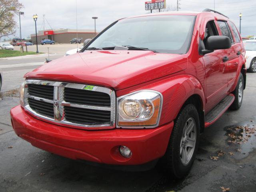
[[[202,110],[204,110],[205,97],[202,84],[194,76],[182,74],[140,88],[120,90],[116,94],[117,96],[121,96],[142,89],[156,90],[163,95],[163,106],[159,125],[173,121],[186,100],[194,94],[201,98]]]

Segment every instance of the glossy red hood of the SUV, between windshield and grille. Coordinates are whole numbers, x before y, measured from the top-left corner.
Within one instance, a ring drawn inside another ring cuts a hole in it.
[[[94,84],[120,90],[182,71],[187,64],[187,58],[180,54],[94,50],[53,60],[24,77]]]

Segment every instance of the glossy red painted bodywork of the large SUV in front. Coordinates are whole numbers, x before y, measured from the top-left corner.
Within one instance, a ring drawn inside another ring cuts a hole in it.
[[[156,90],[163,96],[157,128],[77,130],[38,120],[16,106],[11,110],[16,134],[38,148],[72,159],[134,165],[163,156],[174,119],[186,100],[197,95],[202,103],[202,111],[207,114],[235,89],[245,65],[241,37],[240,42],[235,42],[228,50],[215,50],[206,55],[198,53],[199,39],[204,39],[206,23],[213,20],[218,33],[222,35],[217,20],[227,21],[226,17],[210,12],[169,12],[140,17],[163,14],[196,16],[192,41],[186,54],[92,50],[54,60],[24,76],[27,79],[106,86],[114,89],[117,97],[136,90]],[[232,36],[234,39],[233,32]],[[239,56],[236,55],[238,51],[242,53]],[[222,62],[223,56],[229,56],[230,60]],[[205,122],[205,127],[210,124]],[[119,145],[132,150],[130,159],[120,156]]]

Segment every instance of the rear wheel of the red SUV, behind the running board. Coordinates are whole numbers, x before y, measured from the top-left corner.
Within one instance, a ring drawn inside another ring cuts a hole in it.
[[[236,84],[236,89],[232,92],[232,94],[234,94],[235,100],[230,106],[230,109],[238,110],[242,105],[244,96],[244,77],[242,73],[240,73],[239,75],[238,82]]]

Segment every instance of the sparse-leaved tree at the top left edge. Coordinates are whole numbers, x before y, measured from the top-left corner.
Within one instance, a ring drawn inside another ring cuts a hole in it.
[[[23,5],[18,0],[0,0],[0,38],[16,32],[14,16],[19,14],[21,8]]]

